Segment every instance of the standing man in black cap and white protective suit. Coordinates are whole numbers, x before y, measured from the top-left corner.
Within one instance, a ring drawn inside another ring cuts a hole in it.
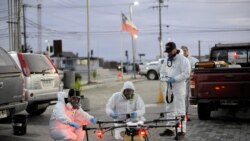
[[[183,120],[181,127],[177,129],[177,137],[179,139],[185,137],[186,121],[185,121],[185,95],[186,95],[186,79],[190,76],[190,63],[187,58],[179,54],[174,42],[166,44],[166,53],[168,56],[160,69],[160,80],[166,82],[166,118],[175,119],[181,117]],[[168,121],[167,125],[175,125],[175,121]],[[159,134],[160,136],[173,136],[174,128],[168,127]]]

